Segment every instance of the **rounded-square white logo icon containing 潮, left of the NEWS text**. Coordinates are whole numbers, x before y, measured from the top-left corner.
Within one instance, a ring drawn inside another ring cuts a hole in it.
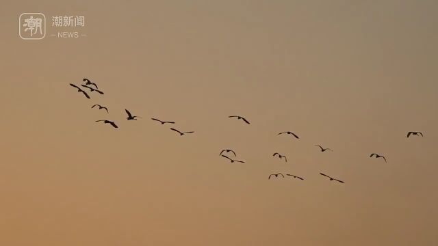
[[[20,15],[20,37],[22,39],[42,39],[46,35],[46,16],[41,13],[23,13]]]

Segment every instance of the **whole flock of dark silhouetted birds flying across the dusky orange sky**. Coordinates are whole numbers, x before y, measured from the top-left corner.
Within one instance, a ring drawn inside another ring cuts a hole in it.
[[[85,83],[81,84],[81,87],[90,90],[90,91],[89,91],[90,93],[91,93],[91,92],[97,92],[97,93],[99,93],[99,94],[101,94],[101,95],[104,94],[101,90],[99,90],[99,87],[96,85],[96,83],[91,82],[89,79],[83,79],[83,82],[85,82]],[[88,95],[88,93],[87,93],[85,90],[82,90],[81,87],[79,87],[79,86],[77,86],[77,85],[75,85],[75,84],[73,84],[73,83],[70,83],[70,86],[75,87],[75,88],[77,89],[77,92],[81,92],[86,98],[90,99],[90,96]],[[93,86],[93,87],[91,87],[91,86]],[[99,107],[99,108],[98,108],[99,110],[100,110],[100,109],[105,109],[105,111],[106,111],[107,113],[110,113],[110,112],[108,111],[108,108],[107,108],[107,107],[104,107],[104,106],[102,106],[102,105],[95,104],[95,105],[92,105],[92,106],[91,106],[92,109],[94,109],[94,107]],[[132,115],[131,112],[128,111],[127,109],[125,109],[125,112],[127,113],[127,120],[137,120],[137,118],[140,118],[140,119],[141,119],[141,117],[138,116],[138,115]],[[246,120],[246,118],[244,118],[244,117],[242,117],[242,116],[240,116],[240,115],[230,115],[229,118],[236,118],[237,120],[242,120],[242,121],[245,122],[246,124],[250,124],[250,122],[248,122],[248,120]],[[157,118],[151,118],[151,120],[153,120],[153,121],[157,121],[157,122],[161,123],[162,125],[163,125],[163,124],[175,124],[175,122],[172,122],[172,121],[158,120]],[[110,124],[112,127],[114,127],[114,128],[118,128],[117,124],[116,124],[114,121],[111,121],[111,120],[96,120],[96,122],[103,122],[104,124]],[[180,136],[183,136],[183,135],[188,134],[188,133],[194,133],[194,131],[179,131],[179,130],[177,130],[176,128],[170,128],[170,130],[179,133]],[[286,135],[292,135],[292,137],[294,137],[294,138],[296,138],[296,139],[300,139],[300,138],[298,137],[298,135],[296,135],[295,133],[292,133],[291,131],[285,131],[285,132],[282,132],[282,133],[278,133],[278,135],[283,135],[283,134],[286,134]],[[410,131],[410,132],[407,133],[407,137],[408,137],[408,138],[409,138],[411,135],[417,135],[417,136],[420,136],[420,135],[421,135],[421,136],[423,137],[423,133],[418,132],[418,131],[417,131],[417,132],[415,132],[415,131]],[[318,146],[318,147],[320,148],[321,152],[325,152],[325,151],[327,151],[327,150],[333,152],[333,150],[331,150],[331,148],[323,148],[323,147],[320,146],[319,144],[315,144],[315,146]],[[224,154],[224,153],[225,153],[225,154]],[[227,155],[228,153],[233,154],[233,157]],[[233,150],[228,150],[228,149],[227,149],[227,150],[222,150],[222,151],[220,152],[219,156],[223,157],[224,159],[228,159],[229,161],[231,161],[231,163],[245,163],[245,161],[240,161],[240,160],[234,159],[234,158],[237,158],[237,154],[236,154]],[[280,153],[278,153],[278,152],[275,152],[274,154],[272,154],[272,156],[278,156],[279,159],[284,159],[285,162],[287,162],[287,157],[286,157],[284,154],[280,154]],[[375,156],[376,159],[378,159],[378,158],[382,158],[385,162],[387,162],[386,157],[383,156],[382,154],[376,154],[376,153],[372,153],[372,154],[370,154],[370,157],[373,157],[373,156]],[[326,178],[329,178],[329,180],[335,180],[335,181],[337,181],[337,182],[344,183],[344,181],[339,180],[339,179],[337,179],[337,178],[333,178],[333,177],[328,176],[328,175],[326,175],[326,174],[322,174],[322,173],[320,173],[320,175],[322,175],[322,176],[324,176],[324,177],[326,177]],[[280,176],[281,176],[281,178],[285,178],[285,176],[284,176],[282,173],[278,173],[278,174],[270,174],[270,175],[268,176],[268,179],[270,179],[272,176],[275,177],[275,178],[280,178]],[[299,180],[304,180],[304,178],[301,178],[301,177],[299,177],[299,176],[295,176],[295,175],[293,175],[293,174],[286,174],[286,176],[290,176],[290,177],[292,177],[292,178],[298,178]]]

